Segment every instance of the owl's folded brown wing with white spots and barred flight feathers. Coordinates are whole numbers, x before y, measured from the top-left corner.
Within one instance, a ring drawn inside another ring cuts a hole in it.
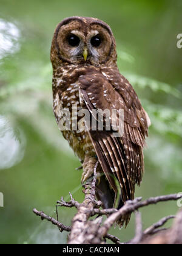
[[[129,82],[120,73],[112,74],[109,68],[103,73],[88,68],[85,75],[79,77],[79,93],[83,98],[82,107],[92,115],[93,110],[112,112],[115,109],[118,124],[119,110],[124,110],[123,136],[115,137],[113,130],[98,130],[98,127],[95,130],[89,127],[89,135],[109,182],[110,177],[118,179],[123,202],[133,199],[135,183],[140,184],[144,168],[142,148],[148,129],[146,112]],[[105,115],[103,119],[106,121]],[[113,182],[110,185],[116,193]]]

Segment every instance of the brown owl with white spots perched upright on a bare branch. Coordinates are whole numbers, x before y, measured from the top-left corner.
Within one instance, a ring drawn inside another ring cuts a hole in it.
[[[83,164],[81,182],[93,175],[99,161],[96,196],[103,208],[121,208],[134,198],[135,185],[141,183],[150,119],[132,85],[118,70],[112,30],[96,18],[66,18],[55,29],[50,59],[53,111],[58,125],[69,116],[70,127],[62,129],[62,134]],[[84,122],[87,129],[78,129],[84,115],[73,116],[75,106],[77,113],[90,113],[96,123],[94,129]],[[105,109],[115,110],[116,124],[120,121],[119,110],[123,110],[120,136],[115,136],[112,126],[106,129]],[[99,120],[93,110],[103,110],[103,129],[98,129]],[[123,216],[120,225],[129,219],[129,215]]]

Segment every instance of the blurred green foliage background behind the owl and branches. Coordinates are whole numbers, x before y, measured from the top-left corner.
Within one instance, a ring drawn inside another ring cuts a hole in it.
[[[181,0],[0,0],[0,243],[66,243],[67,233],[32,209],[56,217],[61,196],[68,200],[72,191],[83,200],[79,161],[52,111],[50,44],[56,24],[67,16],[93,16],[110,25],[120,71],[149,113],[146,172],[136,196],[182,191],[181,13]],[[176,202],[142,209],[144,228],[177,210]],[[74,213],[61,208],[59,219],[69,225]],[[132,217],[127,229],[110,233],[128,241],[134,226]]]

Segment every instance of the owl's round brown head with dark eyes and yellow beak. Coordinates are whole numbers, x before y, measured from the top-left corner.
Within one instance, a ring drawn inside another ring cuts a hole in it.
[[[116,63],[116,44],[110,27],[101,20],[73,16],[58,24],[52,40],[51,61],[101,65]]]

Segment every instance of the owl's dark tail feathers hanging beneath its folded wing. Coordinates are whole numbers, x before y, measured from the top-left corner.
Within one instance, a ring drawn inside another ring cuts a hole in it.
[[[109,182],[106,179],[105,176],[99,177],[99,182],[96,185],[96,197],[99,201],[103,203],[103,208],[113,208],[113,205],[115,205],[115,192],[110,188]],[[120,195],[120,198],[118,200],[118,207],[116,207],[118,210],[123,207],[124,202]],[[124,226],[127,226],[127,224],[130,221],[130,214],[122,216],[121,219],[118,219],[116,224],[121,228]]]

